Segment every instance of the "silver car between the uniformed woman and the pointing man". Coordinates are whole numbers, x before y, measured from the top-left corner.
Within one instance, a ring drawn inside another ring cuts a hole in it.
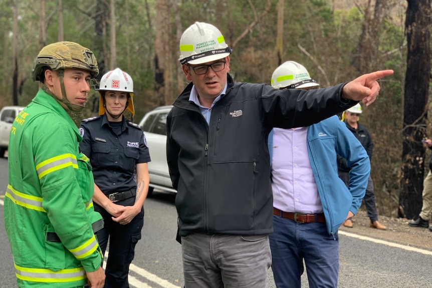
[[[144,130],[151,161],[148,162],[150,184],[148,196],[153,189],[161,189],[176,193],[172,188],[166,162],[166,116],[172,106],[160,106],[144,115],[139,126]]]

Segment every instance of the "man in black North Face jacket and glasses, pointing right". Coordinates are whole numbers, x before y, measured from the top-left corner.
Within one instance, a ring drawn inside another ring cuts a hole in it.
[[[232,50],[213,25],[198,23],[180,39],[191,83],[167,117],[167,160],[187,288],[265,287],[273,231],[268,134],[308,126],[362,100],[391,70],[317,90],[276,90],[235,83]],[[295,87],[294,87],[295,88]]]

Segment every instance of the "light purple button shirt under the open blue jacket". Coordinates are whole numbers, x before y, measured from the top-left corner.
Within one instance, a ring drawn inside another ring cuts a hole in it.
[[[273,129],[273,206],[285,212],[322,213],[309,161],[308,127]]]

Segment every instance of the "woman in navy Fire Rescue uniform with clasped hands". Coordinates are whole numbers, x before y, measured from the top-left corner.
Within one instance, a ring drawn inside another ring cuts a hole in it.
[[[93,167],[95,210],[105,221],[96,235],[104,254],[109,240],[105,288],[125,288],[144,224],[150,155],[141,127],[123,115],[125,110],[134,115],[130,75],[119,68],[109,71],[98,90],[100,116],[82,121],[80,149]]]

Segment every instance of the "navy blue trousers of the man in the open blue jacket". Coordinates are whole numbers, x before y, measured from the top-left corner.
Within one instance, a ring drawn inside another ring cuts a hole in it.
[[[336,288],[339,274],[339,239],[330,235],[326,224],[297,223],[273,215],[269,235],[272,270],[278,288],[301,288],[306,264],[309,287]]]

